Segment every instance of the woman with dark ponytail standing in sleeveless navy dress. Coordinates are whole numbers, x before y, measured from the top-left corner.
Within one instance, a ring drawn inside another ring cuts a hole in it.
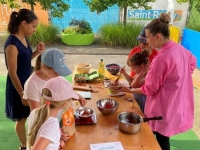
[[[37,16],[28,9],[13,11],[10,15],[8,32],[10,33],[5,46],[5,62],[8,69],[6,81],[7,118],[15,121],[15,131],[20,140],[20,149],[26,149],[25,122],[30,109],[23,97],[24,83],[32,72],[31,60],[42,53],[44,44],[37,45],[37,50],[32,49],[26,39],[36,31]]]

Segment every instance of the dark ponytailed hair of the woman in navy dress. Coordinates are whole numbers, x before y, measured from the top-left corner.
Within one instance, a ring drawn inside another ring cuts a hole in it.
[[[10,21],[8,23],[8,32],[10,34],[18,33],[18,26],[22,21],[31,23],[37,19],[38,17],[36,14],[29,9],[20,9],[19,12],[13,11],[10,15]]]

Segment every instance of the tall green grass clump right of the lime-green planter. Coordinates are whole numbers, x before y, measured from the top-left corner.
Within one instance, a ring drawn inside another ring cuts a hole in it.
[[[138,45],[136,37],[144,25],[127,23],[126,26],[120,23],[105,24],[100,30],[100,44],[106,46],[134,47]]]

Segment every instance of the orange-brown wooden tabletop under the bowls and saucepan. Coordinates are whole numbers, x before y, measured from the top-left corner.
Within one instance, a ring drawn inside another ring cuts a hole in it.
[[[94,86],[96,84],[93,84]],[[99,86],[99,85],[96,85]],[[65,150],[90,150],[90,144],[120,141],[124,150],[161,150],[148,123],[142,123],[137,134],[125,134],[118,129],[117,115],[123,111],[132,111],[144,116],[137,102],[133,101],[133,108],[127,98],[132,94],[127,93],[120,97],[110,97],[108,89],[100,84],[99,93],[92,93],[92,98],[87,100],[86,107],[95,110],[97,123],[94,125],[76,126],[74,137],[66,142]],[[96,107],[96,101],[102,98],[112,98],[119,102],[118,110],[111,115],[103,115]]]

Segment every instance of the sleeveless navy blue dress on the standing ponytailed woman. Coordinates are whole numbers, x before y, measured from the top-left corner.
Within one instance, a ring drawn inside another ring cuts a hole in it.
[[[22,44],[22,42],[14,35],[10,35],[8,37],[4,46],[4,51],[8,45],[15,45],[17,47],[18,50],[17,76],[21,82],[22,87],[24,88],[24,83],[26,82],[26,80],[28,79],[28,77],[32,72],[32,67],[31,67],[32,49],[29,43],[28,47],[25,47]],[[5,53],[5,60],[6,60],[6,53]],[[6,62],[6,67],[8,67],[7,62]],[[9,74],[7,75],[7,81],[6,81],[5,112],[6,112],[6,117],[13,121],[19,121],[23,118],[27,118],[30,113],[30,108],[22,104],[20,95],[18,94],[17,90],[12,84]]]

